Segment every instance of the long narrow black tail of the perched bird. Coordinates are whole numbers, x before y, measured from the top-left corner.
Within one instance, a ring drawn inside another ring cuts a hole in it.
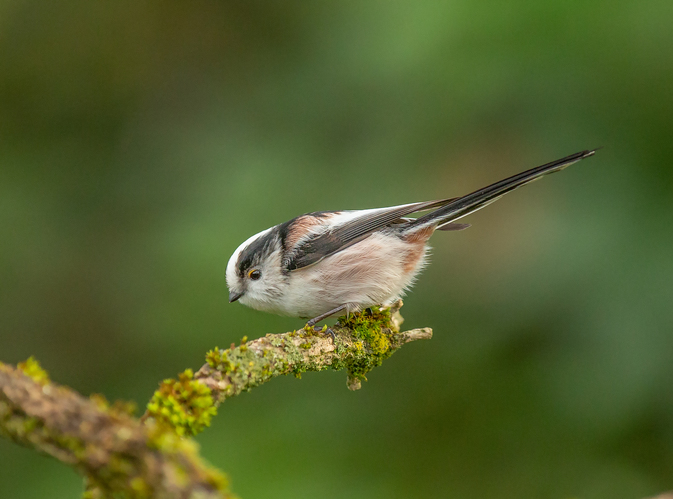
[[[501,196],[507,194],[522,185],[528,184],[537,180],[544,175],[549,173],[554,173],[563,170],[564,168],[577,163],[578,161],[593,156],[598,149],[586,150],[571,154],[565,158],[561,158],[546,165],[538,166],[536,168],[531,168],[525,172],[521,172],[512,177],[491,184],[488,187],[474,191],[467,196],[457,198],[447,205],[435,210],[427,215],[418,217],[414,222],[414,227],[419,227],[423,225],[442,225],[458,220],[470,213],[473,213],[477,210],[480,210],[486,205],[491,204],[496,201]]]

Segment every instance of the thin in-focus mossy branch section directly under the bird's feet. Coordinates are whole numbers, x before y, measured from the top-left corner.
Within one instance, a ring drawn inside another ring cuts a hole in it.
[[[148,404],[143,419],[172,426],[180,435],[194,435],[210,424],[216,408],[229,397],[266,383],[276,376],[307,371],[346,370],[347,386],[361,387],[366,374],[403,344],[432,337],[430,328],[401,333],[402,301],[390,309],[377,307],[341,317],[330,328],[303,328],[247,341],[226,350],[215,348],[196,373],[164,380]],[[207,387],[207,391],[203,388]]]

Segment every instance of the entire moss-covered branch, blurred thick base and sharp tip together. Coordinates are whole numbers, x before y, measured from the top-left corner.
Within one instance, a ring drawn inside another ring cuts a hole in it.
[[[333,335],[302,329],[216,348],[196,374],[164,380],[140,419],[131,404],[53,383],[32,358],[16,368],[0,363],[0,435],[73,466],[86,477],[88,499],[229,498],[224,475],[188,437],[225,399],[276,376],[345,369],[348,388],[360,388],[402,345],[432,337],[429,328],[399,332],[401,306],[342,317]]]

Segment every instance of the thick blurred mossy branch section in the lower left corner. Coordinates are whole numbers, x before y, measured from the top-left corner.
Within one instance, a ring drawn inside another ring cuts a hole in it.
[[[127,411],[49,382],[34,359],[0,364],[0,434],[76,468],[88,497],[230,497],[224,475],[192,440]]]

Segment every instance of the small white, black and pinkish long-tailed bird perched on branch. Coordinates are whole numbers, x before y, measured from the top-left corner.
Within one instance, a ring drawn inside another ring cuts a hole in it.
[[[229,302],[310,319],[307,326],[339,313],[388,307],[427,266],[428,240],[435,232],[470,227],[456,220],[597,150],[571,154],[457,198],[312,212],[270,227],[231,255]],[[419,212],[428,213],[409,217]]]

